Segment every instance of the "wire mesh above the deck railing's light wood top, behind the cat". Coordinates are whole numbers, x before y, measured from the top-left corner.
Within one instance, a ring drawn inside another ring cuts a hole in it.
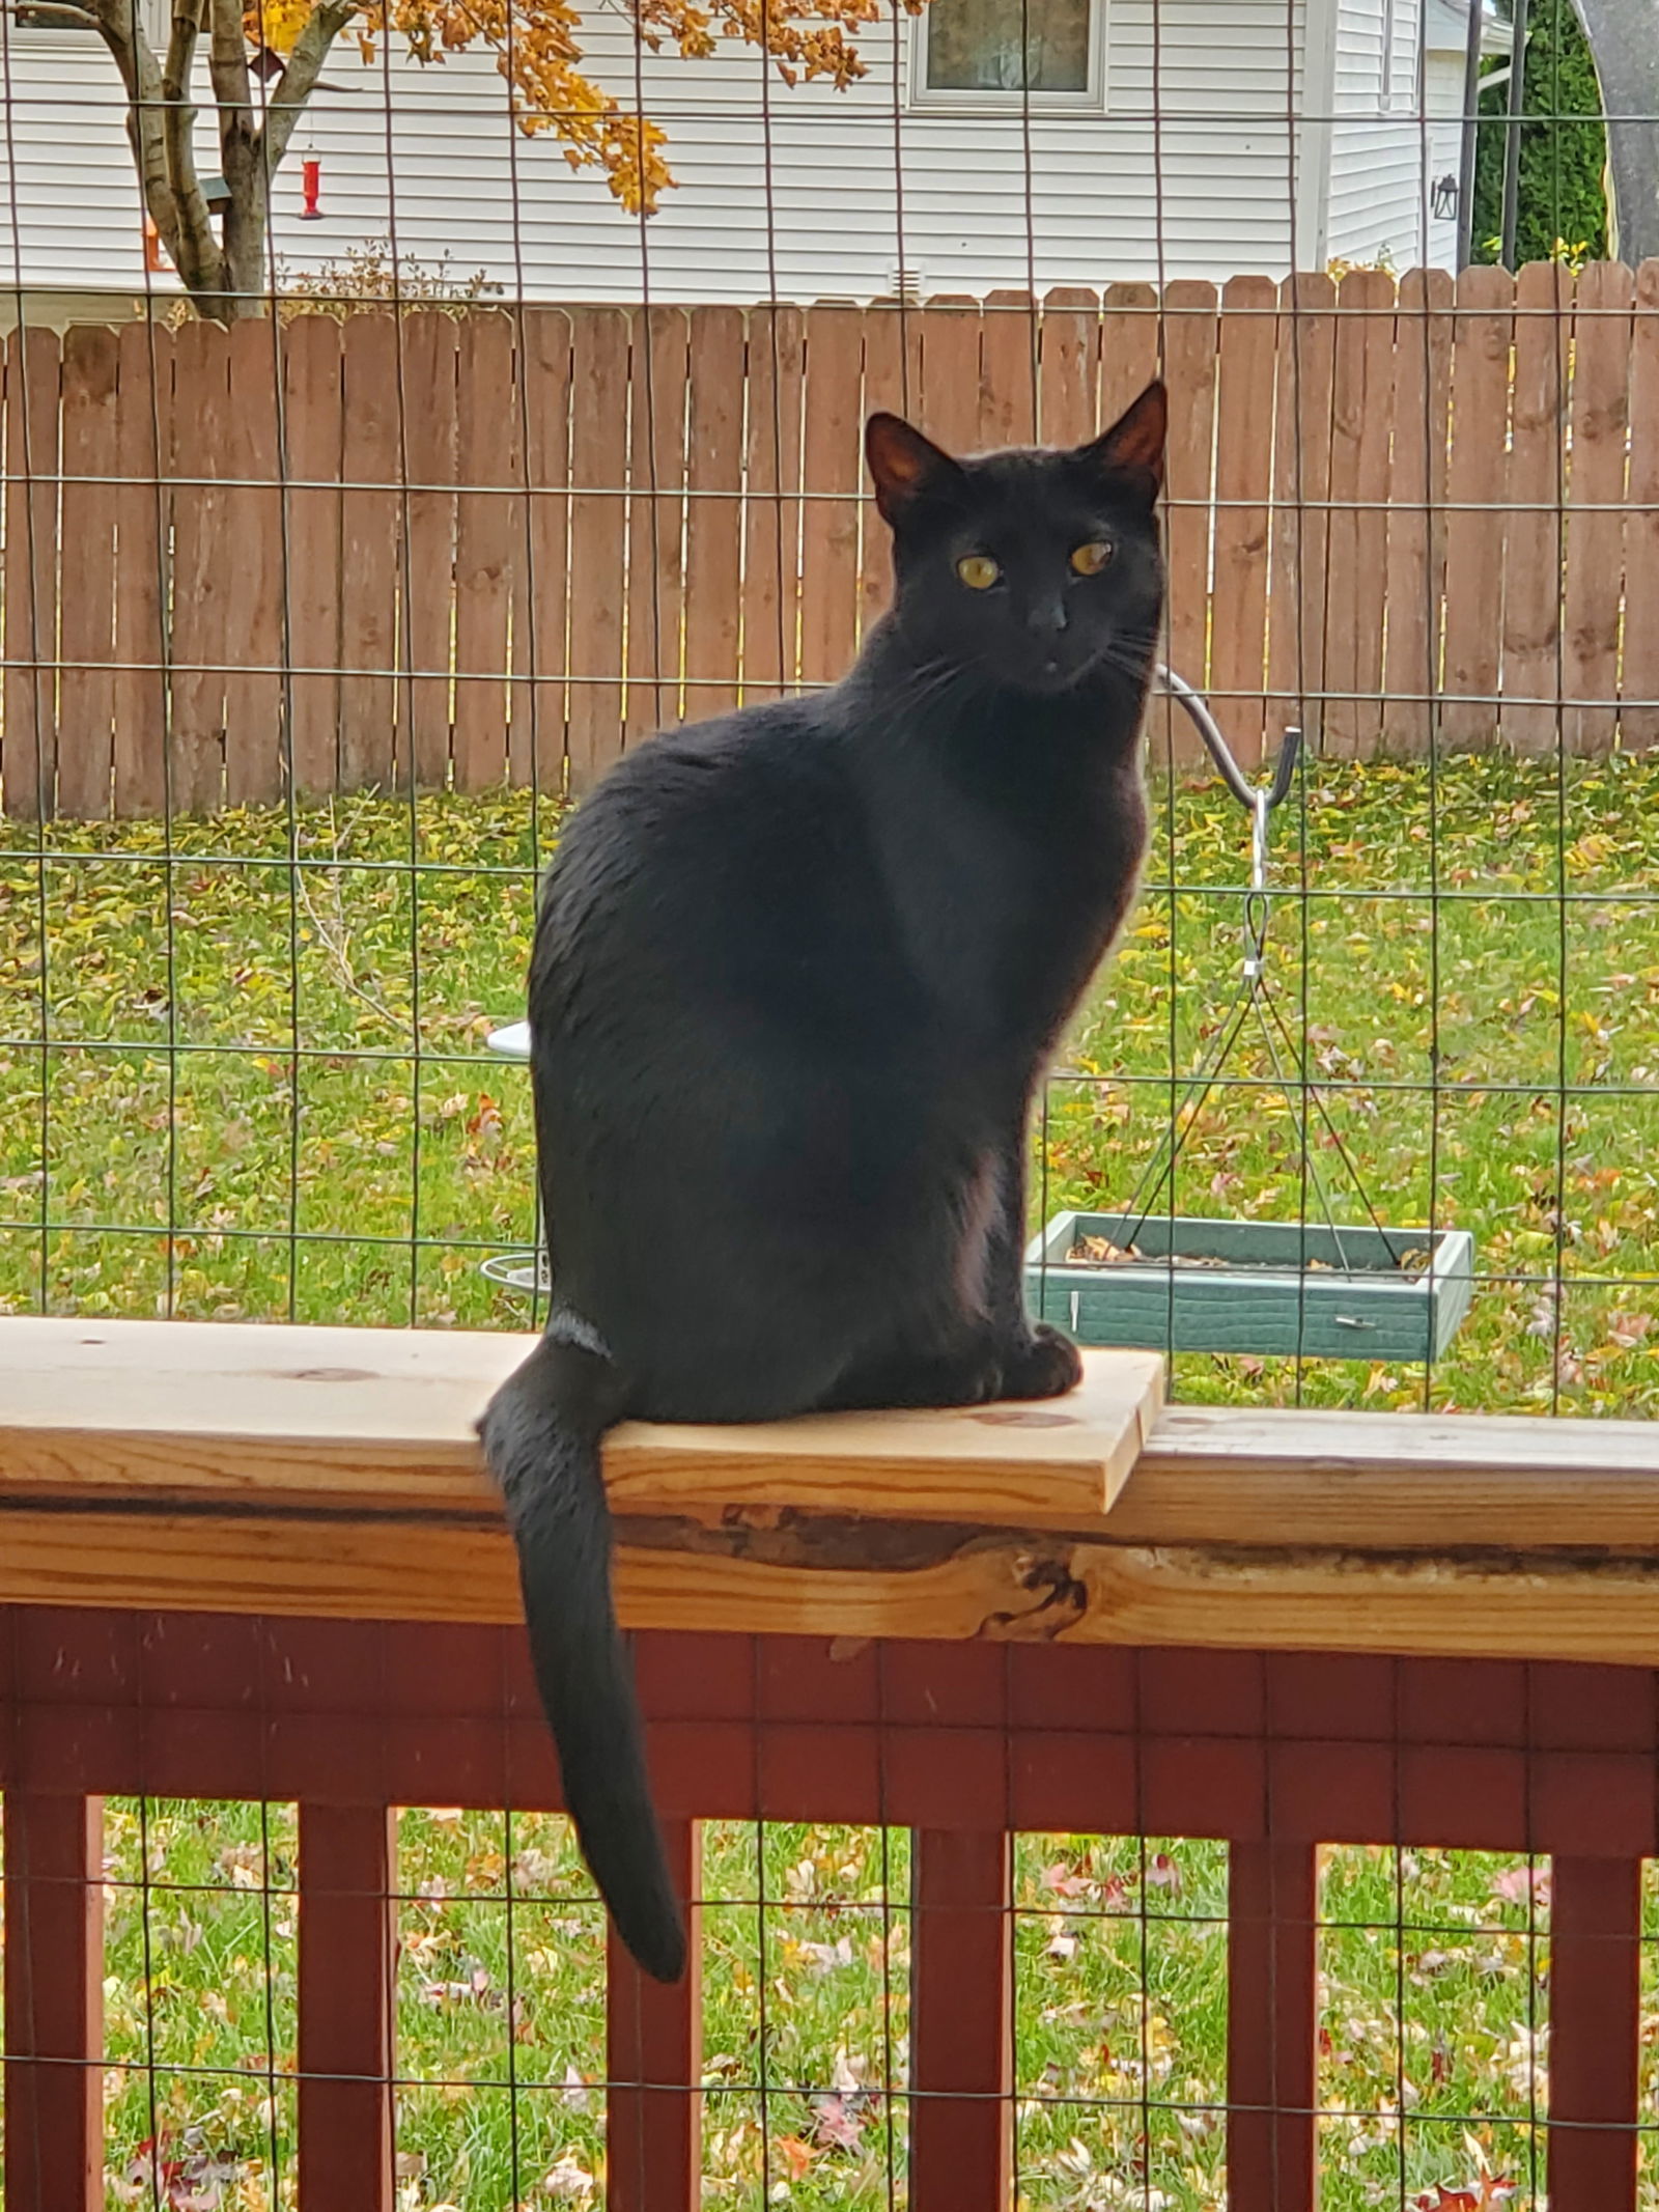
[[[650,221],[599,221],[577,111],[526,106],[533,9],[458,24],[502,71],[458,53],[442,91],[396,42],[338,51],[296,204],[299,93],[250,18],[272,250],[241,296],[197,279],[223,325],[166,252],[115,254],[144,221],[122,24],[7,20],[13,1310],[533,1318],[480,1274],[533,1241],[526,1084],[482,1042],[562,807],[661,721],[849,664],[887,593],[872,407],[960,449],[1071,440],[1161,372],[1168,661],[1252,774],[1285,728],[1307,750],[1252,900],[1250,821],[1155,708],[1159,849],[1048,1093],[1033,1294],[1077,1323],[1079,1270],[1091,1314],[1139,1272],[1188,1394],[1650,1405],[1657,263],[1455,268],[1475,157],[1553,155],[1528,208],[1573,228],[1559,58],[1513,128],[1469,75],[1511,27],[1221,13],[947,0],[856,27],[843,91],[779,77],[765,11],[714,60],[595,22],[615,128],[684,150]],[[204,175],[232,108],[217,84]],[[845,223],[807,226],[832,173]],[[321,274],[288,259],[312,234]],[[434,243],[480,276],[434,276]],[[77,270],[139,314],[84,321]],[[1062,1250],[1152,1161],[1175,1259]],[[1210,1221],[1296,1225],[1290,1265],[1228,1245],[1245,1305],[1272,1279],[1254,1334],[1186,1325]]]

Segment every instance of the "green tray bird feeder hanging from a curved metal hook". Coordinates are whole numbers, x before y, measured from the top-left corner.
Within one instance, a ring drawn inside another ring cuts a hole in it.
[[[1301,730],[1287,730],[1272,783],[1254,785],[1203,699],[1168,668],[1164,688],[1186,708],[1223,783],[1250,814],[1243,962],[1232,1006],[1188,1077],[1186,1097],[1117,1212],[1062,1212],[1026,1250],[1031,1310],[1086,1345],[1168,1352],[1250,1352],[1336,1360],[1433,1360],[1473,1296],[1467,1230],[1387,1228],[1310,1077],[1305,1044],[1285,1020],[1267,960],[1270,827],[1290,794]],[[1292,1117],[1318,1221],[1210,1221],[1159,1212],[1181,1148],[1234,1046],[1254,1033]],[[1345,1170],[1363,1212],[1338,1221],[1316,1137]]]

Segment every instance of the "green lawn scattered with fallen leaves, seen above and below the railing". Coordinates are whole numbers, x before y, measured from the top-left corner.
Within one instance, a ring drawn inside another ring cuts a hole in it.
[[[1239,975],[1241,812],[1159,792],[1133,931],[1051,1091],[1033,1221],[1133,1192]],[[478,1272],[529,1241],[522,1009],[557,814],[349,801],[13,825],[0,852],[0,1307],[522,1327]],[[1431,1376],[1194,1358],[1183,1396],[1659,1409],[1659,761],[1316,765],[1274,832],[1272,971],[1376,1214],[1475,1237]],[[299,865],[290,865],[290,858]],[[1170,889],[1175,885],[1175,889]],[[1307,898],[1296,896],[1305,887]],[[1296,1219],[1294,1117],[1256,1042],[1192,1119],[1179,1210]],[[1365,1219],[1336,1146],[1314,1148]],[[1314,1214],[1318,1208],[1310,1208]],[[706,2201],[902,2197],[907,1840],[708,1836]],[[144,1911],[139,1880],[148,1867]],[[294,2192],[292,1807],[108,1818],[111,2205]],[[761,1878],[763,1876],[763,1878]],[[403,1823],[409,2212],[602,2201],[602,1920],[557,1820]],[[765,1916],[757,1898],[765,1896]],[[1024,1838],[1022,2203],[1223,2201],[1225,1851]],[[1321,1938],[1325,2212],[1535,2205],[1548,1896],[1517,1860],[1334,1851]],[[1644,2112],[1659,2093],[1648,1905]],[[1644,2146],[1646,2148],[1646,2146]],[[128,2163],[131,2161],[131,2163]],[[1659,2161],[1644,2166],[1659,2212]]]

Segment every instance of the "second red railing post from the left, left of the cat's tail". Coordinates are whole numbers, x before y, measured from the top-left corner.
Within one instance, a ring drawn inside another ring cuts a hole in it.
[[[299,2201],[392,2212],[396,1814],[299,1807]]]

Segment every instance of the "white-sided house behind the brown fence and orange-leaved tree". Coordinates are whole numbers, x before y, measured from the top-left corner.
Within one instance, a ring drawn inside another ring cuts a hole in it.
[[[591,69],[628,102],[637,69],[668,131],[677,190],[650,223],[551,135],[511,128],[489,55],[420,69],[394,49],[365,69],[343,40],[276,184],[276,252],[314,268],[392,234],[504,294],[619,301],[872,299],[900,270],[922,292],[989,292],[1334,254],[1402,268],[1425,243],[1449,259],[1449,228],[1427,221],[1447,157],[1444,126],[1420,122],[1440,84],[1422,11],[1455,24],[1455,0],[1042,0],[1051,84],[1029,111],[995,82],[1022,4],[1035,20],[1035,0],[894,9],[863,35],[869,75],[836,93],[768,82],[737,44],[637,62],[626,9],[588,0]],[[170,290],[166,270],[146,279],[95,33],[0,22],[0,285]],[[299,219],[305,153],[321,221]],[[201,166],[217,168],[206,124]]]

